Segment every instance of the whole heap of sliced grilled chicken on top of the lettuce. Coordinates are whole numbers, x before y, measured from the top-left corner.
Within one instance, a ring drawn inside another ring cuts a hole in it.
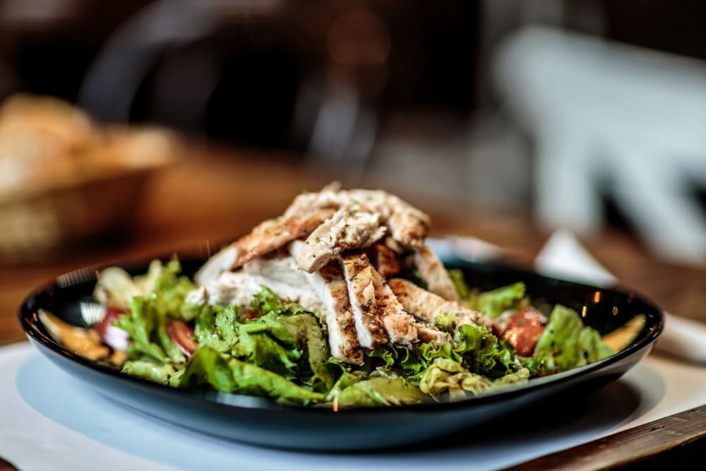
[[[424,245],[428,230],[428,215],[384,191],[327,186],[302,193],[282,216],[207,262],[193,299],[246,304],[268,286],[320,312],[332,356],[349,364],[361,364],[365,348],[388,341],[407,347],[453,342],[433,326],[443,312],[457,313],[457,323],[493,327],[457,303],[446,269]],[[388,281],[409,268],[402,254],[410,252],[430,291]]]

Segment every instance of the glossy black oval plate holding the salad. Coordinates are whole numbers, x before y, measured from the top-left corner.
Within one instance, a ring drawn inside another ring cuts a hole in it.
[[[184,273],[195,273],[202,263],[203,260],[182,260]],[[534,301],[561,303],[578,312],[585,311],[585,324],[601,333],[622,326],[636,314],[645,314],[647,321],[638,338],[626,350],[600,362],[532,379],[523,386],[455,403],[357,407],[336,412],[279,405],[266,398],[169,388],[121,374],[66,350],[49,335],[37,317],[37,311],[46,309],[81,326],[78,305],[81,300],[90,299],[95,273],[100,268],[76,270],[41,287],[20,306],[19,320],[28,338],[42,354],[68,374],[118,403],[181,427],[225,439],[262,446],[326,451],[387,448],[427,441],[460,430],[478,429],[489,421],[503,419],[558,395],[580,400],[582,395],[616,380],[640,362],[662,332],[662,311],[631,292],[546,278],[505,266],[465,261],[453,261],[447,265],[461,268],[468,284],[481,290],[523,281]],[[148,261],[145,261],[128,271],[145,273],[147,267]],[[596,292],[600,295],[597,296]]]

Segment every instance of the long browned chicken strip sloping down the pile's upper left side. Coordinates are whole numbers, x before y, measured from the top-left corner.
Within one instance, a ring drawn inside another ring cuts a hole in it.
[[[262,222],[250,234],[234,243],[237,258],[232,269],[235,270],[253,258],[280,249],[294,239],[308,236],[333,213],[333,210],[316,209],[301,215],[280,216]]]

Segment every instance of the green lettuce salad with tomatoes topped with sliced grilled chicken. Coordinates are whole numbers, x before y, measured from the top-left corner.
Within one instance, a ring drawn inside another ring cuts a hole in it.
[[[193,278],[177,258],[102,270],[85,335],[125,374],[334,409],[463,400],[616,352],[573,309],[533,306],[521,280],[469,287],[424,243],[429,226],[384,191],[301,193]]]

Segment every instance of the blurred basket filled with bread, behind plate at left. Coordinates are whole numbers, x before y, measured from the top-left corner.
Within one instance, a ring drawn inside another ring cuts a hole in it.
[[[0,261],[60,256],[129,227],[176,155],[160,129],[100,126],[76,107],[20,95],[0,107]]]

